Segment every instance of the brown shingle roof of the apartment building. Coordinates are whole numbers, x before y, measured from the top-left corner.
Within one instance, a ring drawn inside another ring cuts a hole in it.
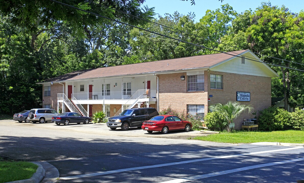
[[[227,52],[229,54],[237,55],[246,50]],[[173,70],[185,70],[192,68],[210,67],[214,64],[218,64],[224,60],[227,60],[232,55],[225,53],[198,55],[192,57],[174,58],[168,60],[158,60],[152,62],[144,62],[138,64],[118,65],[113,67],[101,67],[97,69],[79,70],[74,71],[62,76],[49,78],[43,82],[51,81],[66,81],[66,80],[78,80],[89,79],[96,77],[110,77],[129,74],[141,74],[150,72],[161,71],[173,71]]]

